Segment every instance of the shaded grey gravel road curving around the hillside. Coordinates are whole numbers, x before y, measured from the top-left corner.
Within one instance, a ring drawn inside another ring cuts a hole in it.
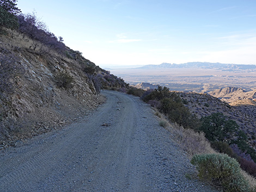
[[[215,191],[138,97],[107,102],[64,129],[0,152],[0,191]]]

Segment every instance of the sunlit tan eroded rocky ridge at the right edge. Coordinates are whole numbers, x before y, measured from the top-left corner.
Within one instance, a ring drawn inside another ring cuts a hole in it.
[[[235,87],[227,87],[223,89],[216,89],[214,91],[210,91],[209,94],[211,96],[219,98],[221,101],[225,101],[227,103],[233,103],[237,100],[247,100],[243,102],[236,102],[238,103],[245,103],[245,104],[254,104],[256,101],[256,90],[253,91],[245,91],[242,88],[235,88]]]

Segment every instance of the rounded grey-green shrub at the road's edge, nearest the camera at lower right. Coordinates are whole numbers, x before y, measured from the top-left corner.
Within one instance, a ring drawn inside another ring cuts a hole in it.
[[[239,163],[227,154],[201,154],[193,156],[200,179],[222,187],[223,191],[249,191],[247,180],[241,175]]]

